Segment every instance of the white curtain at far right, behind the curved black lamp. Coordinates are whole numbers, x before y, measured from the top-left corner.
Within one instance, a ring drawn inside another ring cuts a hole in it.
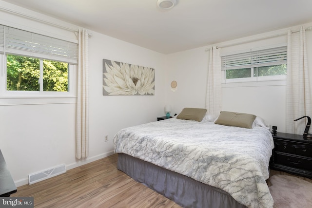
[[[293,120],[304,115],[312,117],[304,27],[300,32],[288,31],[286,89],[286,132],[303,134],[307,119]]]

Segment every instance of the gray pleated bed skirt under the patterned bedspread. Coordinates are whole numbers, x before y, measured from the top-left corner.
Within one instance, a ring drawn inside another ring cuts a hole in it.
[[[246,208],[224,190],[127,154],[118,153],[117,168],[183,208]]]

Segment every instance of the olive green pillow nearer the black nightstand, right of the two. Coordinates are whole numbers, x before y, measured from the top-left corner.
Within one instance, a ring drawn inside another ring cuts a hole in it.
[[[248,113],[221,111],[219,117],[215,121],[215,124],[252,129],[255,117],[255,115]]]

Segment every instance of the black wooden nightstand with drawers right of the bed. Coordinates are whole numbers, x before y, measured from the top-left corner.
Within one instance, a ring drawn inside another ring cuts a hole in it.
[[[312,139],[303,135],[277,132],[270,168],[312,178]]]

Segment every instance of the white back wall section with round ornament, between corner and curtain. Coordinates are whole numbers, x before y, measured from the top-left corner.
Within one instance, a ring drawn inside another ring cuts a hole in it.
[[[205,108],[208,59],[207,47],[167,55],[166,80],[167,102],[172,113],[180,113],[184,107]],[[176,80],[177,89],[171,90],[170,83]]]

